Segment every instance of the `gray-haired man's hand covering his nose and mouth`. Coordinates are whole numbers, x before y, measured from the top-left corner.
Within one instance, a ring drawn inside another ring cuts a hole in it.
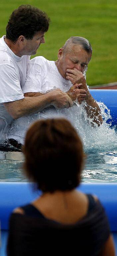
[[[81,89],[84,89],[87,91],[86,80],[81,71],[77,70],[76,68],[67,69],[66,71],[67,71],[66,73],[67,80],[71,81],[73,85],[82,83]]]

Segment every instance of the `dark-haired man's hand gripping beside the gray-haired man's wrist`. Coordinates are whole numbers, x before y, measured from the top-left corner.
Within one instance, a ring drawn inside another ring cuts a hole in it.
[[[52,105],[57,109],[69,108],[72,106],[72,98],[66,92],[62,92],[60,89],[56,89],[48,92],[48,95],[53,97]]]

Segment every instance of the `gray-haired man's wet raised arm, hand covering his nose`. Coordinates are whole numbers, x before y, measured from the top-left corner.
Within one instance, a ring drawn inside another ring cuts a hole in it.
[[[103,121],[101,116],[101,111],[98,104],[93,99],[92,95],[90,94],[86,86],[86,80],[83,74],[76,68],[74,70],[68,69],[66,74],[67,74],[66,78],[70,80],[74,84],[74,86],[77,83],[82,84],[80,86],[80,89],[83,89],[86,91],[86,97],[84,99],[87,103],[85,106],[87,116],[90,117],[92,121],[95,122],[98,126],[100,126],[100,124],[102,124],[102,121]]]

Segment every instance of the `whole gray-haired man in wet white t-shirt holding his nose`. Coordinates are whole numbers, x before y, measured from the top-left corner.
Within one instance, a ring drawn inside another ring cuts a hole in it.
[[[48,95],[49,91],[52,92],[59,88],[71,98],[73,105],[81,104],[84,101],[84,108],[91,123],[100,126],[102,123],[100,108],[91,96],[85,79],[85,72],[91,55],[92,48],[87,39],[70,37],[64,46],[59,49],[57,61],[49,61],[42,56],[30,60],[26,81],[22,87],[24,96],[41,97],[42,95]],[[74,112],[77,109],[72,106],[71,111],[74,118]],[[61,114],[67,118],[68,113],[69,109],[58,110],[54,106],[44,107],[37,115],[28,116],[27,121],[26,118],[16,120],[12,124],[13,129],[9,136],[23,143],[24,134],[29,123],[37,118],[52,118],[61,116]],[[21,131],[25,131],[22,138]]]

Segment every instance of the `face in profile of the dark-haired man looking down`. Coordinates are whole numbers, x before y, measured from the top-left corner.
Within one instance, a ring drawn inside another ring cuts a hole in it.
[[[37,52],[37,49],[39,48],[40,44],[45,43],[44,39],[44,32],[37,32],[33,39],[26,39],[24,40],[24,55],[34,55]]]

